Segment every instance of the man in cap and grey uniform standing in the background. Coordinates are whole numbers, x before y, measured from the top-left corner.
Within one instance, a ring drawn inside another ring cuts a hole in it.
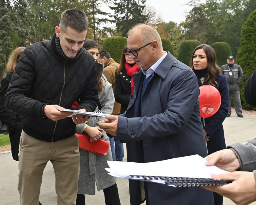
[[[243,80],[243,71],[240,65],[234,64],[235,59],[234,56],[229,55],[227,59],[226,65],[222,65],[222,74],[224,74],[228,80],[228,88],[229,88],[229,98],[231,100],[231,96],[233,96],[233,102],[236,110],[236,114],[238,117],[243,117],[242,115],[242,105],[240,100],[240,87],[239,84]],[[231,115],[231,104],[229,100],[229,108],[228,115]]]

